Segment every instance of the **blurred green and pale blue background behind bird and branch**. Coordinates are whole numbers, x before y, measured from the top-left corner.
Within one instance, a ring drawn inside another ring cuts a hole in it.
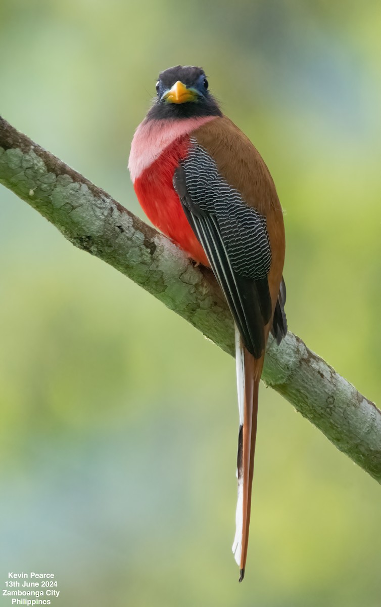
[[[379,402],[380,29],[372,0],[2,0],[0,113],[143,216],[133,131],[160,70],[203,66],[285,208],[289,327]],[[379,607],[379,486],[263,387],[238,586],[234,361],[0,202],[0,580],[52,571],[67,607]]]

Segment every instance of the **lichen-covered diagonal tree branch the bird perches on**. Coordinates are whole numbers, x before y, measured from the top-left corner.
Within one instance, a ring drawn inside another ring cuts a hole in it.
[[[0,182],[229,354],[232,317],[211,271],[0,117]],[[302,340],[269,339],[263,381],[381,483],[381,412]]]

